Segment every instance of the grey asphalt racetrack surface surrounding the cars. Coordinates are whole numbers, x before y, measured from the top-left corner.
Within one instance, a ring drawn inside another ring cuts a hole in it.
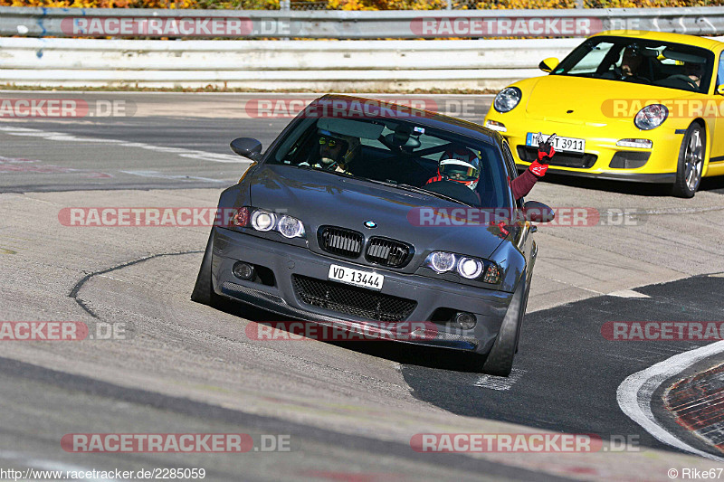
[[[520,352],[513,376],[501,380],[473,372],[467,356],[410,345],[250,343],[247,320],[273,317],[188,301],[207,229],[169,235],[59,226],[58,209],[68,205],[213,205],[248,165],[229,156],[228,142],[257,137],[266,146],[289,120],[220,114],[248,96],[94,98],[138,109],[132,117],[0,123],[0,320],[125,322],[133,336],[105,345],[3,342],[0,467],[202,467],[214,480],[666,480],[667,467],[720,467],[654,439],[616,401],[627,376],[708,342],[621,342],[601,334],[609,321],[721,321],[724,278],[708,276],[724,271],[720,180],[690,203],[631,185],[562,178],[537,186],[541,201],[575,205],[586,196],[583,205],[641,206],[649,216],[626,232],[541,228]],[[489,103],[475,99],[471,119]],[[176,150],[163,150],[169,147]],[[580,258],[574,242],[586,249]],[[622,298],[623,288],[633,289],[624,297],[648,298]],[[697,369],[723,362],[716,354]],[[667,421],[660,405],[653,397],[667,430],[721,455]],[[426,431],[536,430],[594,433],[605,442],[625,437],[637,447],[468,455],[417,453],[408,443]],[[255,442],[286,434],[291,451],[238,457],[60,448],[67,433],[110,432],[238,432]]]

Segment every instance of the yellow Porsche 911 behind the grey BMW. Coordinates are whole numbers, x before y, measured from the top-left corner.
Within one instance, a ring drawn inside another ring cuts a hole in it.
[[[692,197],[724,175],[724,43],[678,33],[594,35],[548,75],[500,90],[484,125],[520,168],[557,134],[548,173],[672,184]]]

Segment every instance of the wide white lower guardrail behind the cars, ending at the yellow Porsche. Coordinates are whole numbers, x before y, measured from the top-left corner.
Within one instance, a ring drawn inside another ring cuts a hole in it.
[[[0,84],[254,90],[498,90],[581,39],[185,41],[0,38]]]

